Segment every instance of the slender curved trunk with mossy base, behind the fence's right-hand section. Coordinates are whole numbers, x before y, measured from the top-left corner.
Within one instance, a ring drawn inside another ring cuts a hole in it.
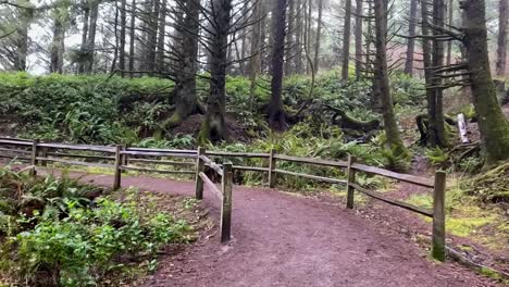
[[[376,93],[382,102],[384,129],[387,145],[393,154],[408,158],[408,150],[404,146],[399,135],[398,125],[393,111],[393,99],[387,68],[387,2],[388,0],[374,1],[375,17],[375,80]]]

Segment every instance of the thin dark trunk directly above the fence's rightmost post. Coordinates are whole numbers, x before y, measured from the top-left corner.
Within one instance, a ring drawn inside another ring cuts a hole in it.
[[[434,0],[433,1],[433,24],[437,27],[445,28],[445,12],[446,5],[445,0]],[[442,33],[437,29],[433,29],[433,35],[438,37]],[[444,41],[433,40],[433,66],[443,66],[444,65]],[[442,77],[439,77],[435,72],[433,72],[432,85],[435,87],[435,138],[432,139],[437,146],[446,147],[447,138],[445,136],[445,122],[444,122],[444,89],[440,87],[443,84]]]

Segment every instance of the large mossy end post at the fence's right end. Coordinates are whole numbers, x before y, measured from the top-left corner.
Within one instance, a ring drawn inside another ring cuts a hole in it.
[[[433,192],[432,257],[439,261],[444,261],[446,258],[445,189],[446,189],[446,173],[443,171],[436,172],[435,173],[435,189]]]

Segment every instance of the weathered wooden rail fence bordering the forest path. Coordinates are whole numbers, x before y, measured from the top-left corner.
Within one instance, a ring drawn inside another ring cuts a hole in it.
[[[4,148],[8,147],[8,148]],[[100,154],[76,154],[69,151],[87,151]],[[257,158],[265,159],[268,167],[260,166],[240,166],[232,165],[231,163],[216,164],[208,157],[226,157],[226,158]],[[270,153],[248,153],[248,152],[224,152],[224,151],[206,151],[203,148],[198,150],[170,150],[170,149],[145,149],[145,148],[124,148],[89,146],[89,145],[67,145],[67,144],[49,144],[39,142],[38,140],[22,140],[12,138],[0,138],[0,158],[17,159],[27,161],[32,165],[45,165],[47,162],[58,162],[70,165],[86,165],[107,167],[114,170],[113,188],[121,187],[121,178],[123,171],[135,171],[144,173],[163,173],[163,174],[188,174],[194,175],[196,180],[196,198],[202,199],[203,185],[206,185],[221,200],[221,241],[226,242],[231,237],[231,219],[232,219],[232,188],[233,188],[233,171],[250,171],[260,172],[268,175],[269,186],[274,188],[276,185],[277,175],[297,176],[318,182],[330,184],[340,184],[347,187],[348,209],[353,209],[353,195],[356,191],[361,192],[371,198],[375,198],[388,204],[399,207],[411,212],[432,217],[432,255],[437,260],[445,260],[446,242],[445,242],[445,188],[446,174],[436,172],[435,178],[430,179],[409,174],[400,174],[392,171],[364,165],[356,162],[353,157],[349,157],[347,162],[331,161],[324,159],[298,158],[284,154],[276,154],[274,150]],[[167,158],[178,159],[178,161],[169,161]],[[82,159],[82,160],[69,160]],[[186,161],[187,160],[187,161]],[[188,161],[191,160],[191,161]],[[346,171],[347,178],[337,179],[305,173],[296,173],[277,169],[278,162],[293,162],[310,165],[320,165],[336,167]],[[160,170],[140,167],[139,164],[156,164],[157,166],[171,165],[177,166],[176,170]],[[186,166],[196,166],[191,170],[182,170]],[[209,166],[222,178],[221,190],[206,175],[204,166]],[[380,175],[392,179],[397,179],[410,183],[417,186],[433,189],[433,210],[426,210],[406,202],[394,200],[385,197],[380,192],[368,190],[357,184],[357,173],[367,173],[371,175]]]

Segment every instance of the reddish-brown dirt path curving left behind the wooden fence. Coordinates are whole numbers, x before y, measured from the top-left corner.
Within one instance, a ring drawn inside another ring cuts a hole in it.
[[[110,186],[111,176],[90,175]],[[123,177],[123,186],[191,196],[194,184]],[[204,204],[218,217],[219,202]],[[276,190],[235,187],[233,241],[201,238],[173,257],[140,286],[497,286],[426,252],[343,205]]]

